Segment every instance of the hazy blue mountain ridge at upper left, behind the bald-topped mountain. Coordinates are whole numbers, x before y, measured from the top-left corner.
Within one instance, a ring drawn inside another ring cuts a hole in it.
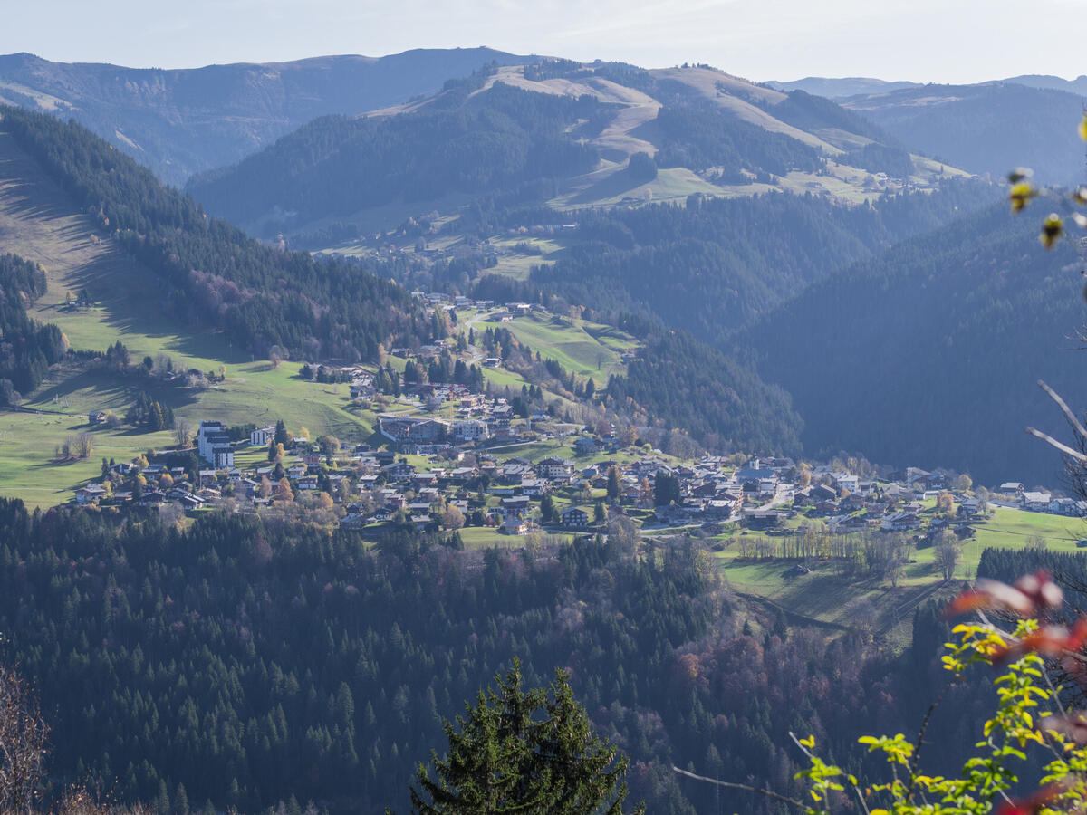
[[[162,71],[0,57],[0,103],[74,117],[163,180],[236,162],[318,116],[429,95],[485,63],[534,58],[490,48]]]

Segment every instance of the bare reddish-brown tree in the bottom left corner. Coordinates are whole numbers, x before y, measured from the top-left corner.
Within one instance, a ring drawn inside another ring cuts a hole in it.
[[[29,813],[45,775],[49,726],[29,686],[0,666],[0,812]]]

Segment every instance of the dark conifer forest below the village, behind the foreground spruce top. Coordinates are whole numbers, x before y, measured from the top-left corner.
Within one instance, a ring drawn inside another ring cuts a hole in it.
[[[857,767],[858,734],[913,731],[947,681],[935,612],[901,659],[773,615],[760,626],[690,539],[473,553],[411,532],[368,551],[343,530],[212,515],[183,532],[4,500],[0,564],[4,655],[40,694],[57,782],[116,778],[122,800],[163,811],[403,811],[416,762],[443,745],[440,717],[516,655],[528,685],[571,669],[651,812],[771,813],[670,768],[788,791],[789,730]],[[985,703],[951,693],[926,766],[961,757],[944,736]]]

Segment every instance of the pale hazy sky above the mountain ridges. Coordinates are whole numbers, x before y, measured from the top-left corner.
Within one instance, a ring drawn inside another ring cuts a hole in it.
[[[757,80],[1074,78],[1087,0],[33,0],[0,25],[0,53],[142,67],[454,46]]]

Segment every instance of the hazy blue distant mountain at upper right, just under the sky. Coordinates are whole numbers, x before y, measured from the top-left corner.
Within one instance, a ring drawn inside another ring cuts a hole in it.
[[[1027,87],[1023,79],[924,85],[839,101],[903,142],[972,173],[1003,176],[1028,166],[1044,183],[1080,180],[1084,147],[1076,125],[1083,98]]]

